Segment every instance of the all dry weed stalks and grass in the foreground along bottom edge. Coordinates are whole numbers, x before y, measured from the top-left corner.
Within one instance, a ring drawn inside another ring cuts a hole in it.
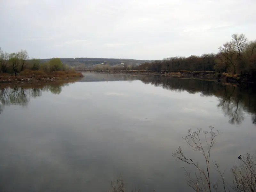
[[[226,182],[225,171],[220,169],[217,162],[211,163],[211,150],[214,147],[217,136],[221,132],[214,131],[214,127],[210,127],[210,131],[202,131],[202,129],[193,131],[188,129],[187,133],[188,135],[183,139],[187,142],[188,147],[198,153],[198,155],[201,155],[205,164],[199,165],[196,163],[195,160],[183,152],[181,147],[178,147],[172,153],[172,156],[195,168],[193,174],[184,168],[187,176],[187,185],[191,189],[196,192],[256,192],[256,159],[254,155],[244,154],[238,157],[240,164],[230,169],[233,175],[233,183],[229,185]],[[215,169],[220,176],[220,179],[216,182],[211,181],[212,169]],[[127,192],[124,180],[115,180],[114,178],[109,192]]]

